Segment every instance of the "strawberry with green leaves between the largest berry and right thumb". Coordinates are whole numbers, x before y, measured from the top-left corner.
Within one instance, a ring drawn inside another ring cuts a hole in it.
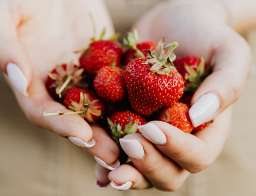
[[[204,58],[192,55],[178,58],[173,64],[184,79],[185,91],[192,93],[210,73],[210,67],[207,67]]]

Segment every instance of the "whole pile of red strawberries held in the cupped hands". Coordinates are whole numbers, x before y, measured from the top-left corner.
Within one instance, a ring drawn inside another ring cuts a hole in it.
[[[177,59],[177,42],[139,43],[136,30],[122,44],[102,37],[80,51],[79,65],[71,61],[49,72],[46,86],[55,101],[89,124],[98,123],[116,143],[151,120],[186,133],[210,123],[193,127],[188,113],[193,93],[210,72],[203,58]]]

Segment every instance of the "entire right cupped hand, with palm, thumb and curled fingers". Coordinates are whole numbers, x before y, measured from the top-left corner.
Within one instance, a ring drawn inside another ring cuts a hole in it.
[[[111,181],[117,190],[151,186],[177,190],[189,173],[204,170],[218,157],[230,132],[231,105],[242,92],[251,61],[247,42],[227,23],[221,4],[201,0],[168,1],[139,20],[136,29],[141,40],[165,37],[166,43],[179,43],[177,56],[203,56],[207,63],[213,62],[212,74],[192,98],[190,117],[194,126],[213,118],[214,122],[194,135],[160,121],[140,127],[142,135],[121,139],[132,165],[122,164],[111,172],[98,165],[99,184]]]

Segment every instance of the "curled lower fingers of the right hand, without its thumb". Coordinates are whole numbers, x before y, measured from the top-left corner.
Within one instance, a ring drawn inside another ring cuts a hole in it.
[[[120,140],[132,164],[122,164],[109,173],[96,167],[98,182],[111,182],[116,190],[152,186],[165,191],[179,189],[190,173],[204,170],[221,153],[230,130],[230,113],[231,107],[194,135],[162,121],[140,126],[142,134],[129,134]]]

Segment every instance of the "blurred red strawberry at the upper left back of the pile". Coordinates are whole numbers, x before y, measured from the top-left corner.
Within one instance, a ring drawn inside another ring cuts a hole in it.
[[[105,35],[105,29],[102,32],[99,40],[92,39],[89,47],[82,51],[79,57],[79,63],[81,67],[89,75],[96,75],[96,72],[106,65],[115,65],[119,67],[121,65],[121,57],[123,49],[116,41],[116,35],[113,35],[108,40],[102,40]]]

